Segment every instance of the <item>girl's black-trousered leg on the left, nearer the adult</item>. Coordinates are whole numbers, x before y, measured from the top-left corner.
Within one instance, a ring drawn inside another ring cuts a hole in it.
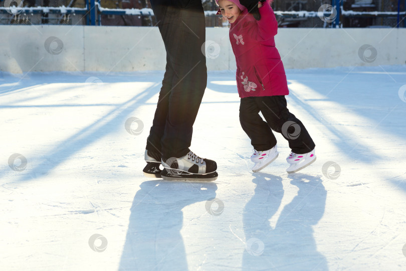
[[[240,102],[240,123],[257,151],[266,151],[276,145],[276,138],[269,125],[259,115],[256,97],[242,98]]]

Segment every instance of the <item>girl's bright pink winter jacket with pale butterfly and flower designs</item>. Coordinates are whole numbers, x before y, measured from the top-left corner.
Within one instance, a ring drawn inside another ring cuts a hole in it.
[[[241,98],[288,95],[285,69],[275,47],[278,22],[266,2],[259,11],[261,20],[244,10],[230,27],[238,93]]]

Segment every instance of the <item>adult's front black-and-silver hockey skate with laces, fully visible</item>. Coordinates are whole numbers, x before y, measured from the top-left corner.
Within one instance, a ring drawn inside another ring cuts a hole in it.
[[[161,162],[164,167],[161,177],[164,180],[211,182],[218,177],[216,162],[198,157],[193,152],[180,158],[162,158]]]

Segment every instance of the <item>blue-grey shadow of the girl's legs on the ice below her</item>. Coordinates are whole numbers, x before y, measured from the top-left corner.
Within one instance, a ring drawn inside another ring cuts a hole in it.
[[[294,174],[289,178],[299,191],[284,206],[275,228],[269,220],[282,201],[282,179],[269,174],[254,178],[255,195],[244,211],[243,270],[328,270],[312,228],[324,214],[327,192],[320,177]]]

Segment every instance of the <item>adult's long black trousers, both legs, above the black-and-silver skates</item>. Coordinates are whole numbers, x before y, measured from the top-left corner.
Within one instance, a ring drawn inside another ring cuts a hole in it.
[[[166,70],[146,150],[165,159],[190,150],[192,127],[207,84],[206,22],[201,0],[151,0],[166,50]]]

